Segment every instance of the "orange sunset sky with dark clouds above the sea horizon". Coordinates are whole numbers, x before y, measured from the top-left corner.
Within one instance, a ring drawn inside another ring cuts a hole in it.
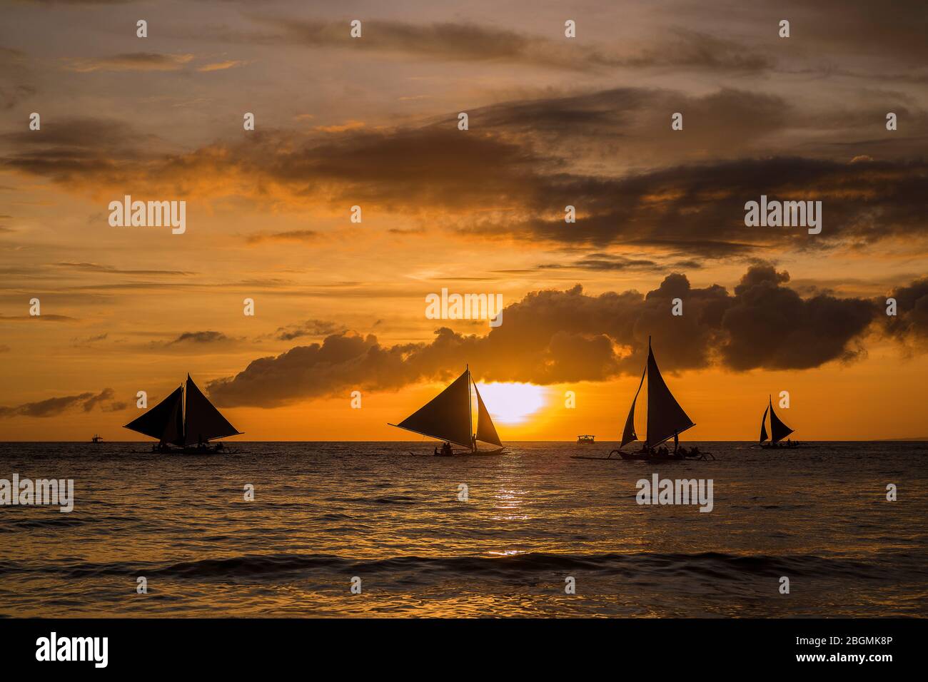
[[[923,2],[0,5],[2,440],[142,439],[187,373],[242,438],[408,440],[465,365],[504,442],[616,440],[649,337],[693,440],[783,391],[801,440],[928,435]]]

